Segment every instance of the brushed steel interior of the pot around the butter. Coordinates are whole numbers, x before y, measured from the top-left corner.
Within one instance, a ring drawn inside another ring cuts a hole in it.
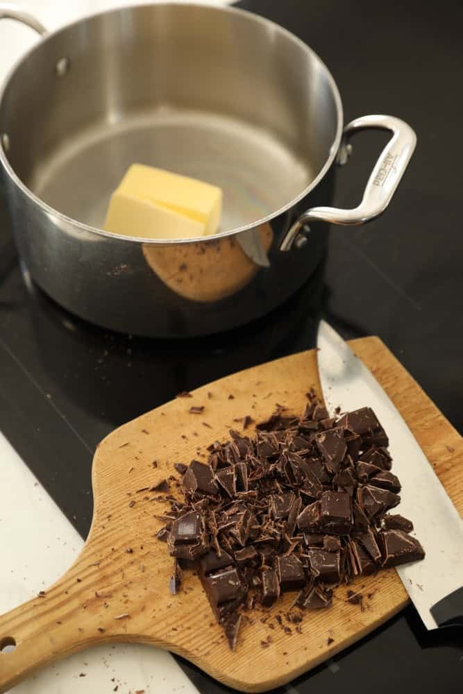
[[[17,176],[97,228],[133,162],[219,185],[221,231],[268,219],[327,164],[341,120],[328,70],[293,35],[248,12],[178,4],[46,37],[0,108]]]

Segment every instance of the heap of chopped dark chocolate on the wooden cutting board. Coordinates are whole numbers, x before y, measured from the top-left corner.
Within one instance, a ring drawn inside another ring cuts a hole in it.
[[[176,464],[183,499],[167,496],[171,510],[158,516],[167,525],[155,536],[174,558],[171,591],[180,586],[180,566],[196,566],[232,649],[244,609],[253,623],[253,609],[286,592],[299,610],[330,609],[335,586],[424,557],[411,521],[389,513],[400,502],[400,482],[373,410],[330,418],[313,390],[307,398],[301,416],[278,405],[252,435],[231,429],[228,440],[210,443],[205,462]],[[253,423],[249,415],[234,421],[243,429]],[[358,590],[346,602],[364,609]],[[301,633],[302,612],[285,619],[275,616],[286,634]]]

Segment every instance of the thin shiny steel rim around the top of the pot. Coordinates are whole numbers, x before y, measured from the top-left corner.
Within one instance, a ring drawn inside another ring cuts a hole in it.
[[[179,6],[183,8],[192,8],[192,6],[199,6],[201,8],[207,8],[210,12],[228,12],[231,14],[239,14],[239,15],[244,15],[249,21],[251,22],[257,22],[258,24],[266,24],[267,26],[270,24],[273,26],[274,31],[278,31],[283,35],[286,35],[292,42],[295,44],[298,44],[304,51],[307,53],[310,53],[312,58],[316,60],[319,63],[319,66],[326,72],[326,77],[328,79],[328,83],[330,84],[332,94],[335,100],[335,105],[336,105],[336,112],[337,112],[337,128],[336,128],[336,133],[335,133],[335,139],[333,140],[331,146],[330,146],[330,154],[328,155],[328,158],[326,159],[326,162],[323,164],[323,167],[321,167],[319,173],[315,178],[310,182],[310,184],[301,191],[298,196],[295,198],[292,198],[291,201],[283,205],[281,208],[278,210],[275,210],[271,212],[270,214],[267,214],[265,217],[262,217],[256,221],[254,221],[251,224],[246,224],[244,226],[239,226],[234,229],[229,229],[224,232],[219,232],[214,235],[210,236],[199,236],[199,237],[192,237],[188,239],[147,239],[145,237],[134,237],[134,236],[124,236],[121,234],[114,234],[112,232],[106,231],[104,229],[100,229],[98,227],[90,226],[88,224],[85,224],[83,222],[78,221],[77,219],[73,219],[72,217],[68,217],[66,214],[63,214],[59,210],[56,210],[55,208],[51,207],[51,205],[48,205],[45,203],[41,198],[36,196],[17,176],[15,173],[15,170],[12,168],[10,162],[8,161],[8,157],[6,155],[6,152],[3,149],[3,142],[2,138],[0,137],[0,163],[2,164],[3,168],[5,169],[6,173],[10,177],[13,183],[21,190],[21,192],[32,202],[38,205],[41,210],[47,214],[48,216],[51,217],[57,217],[59,221],[62,221],[65,224],[71,224],[78,230],[82,232],[87,232],[92,235],[100,236],[100,237],[106,237],[108,239],[115,239],[119,241],[124,241],[124,242],[131,242],[134,244],[146,244],[149,246],[167,246],[171,244],[192,244],[192,243],[198,243],[198,242],[208,242],[208,241],[214,241],[222,238],[226,238],[228,236],[234,236],[239,234],[240,232],[245,232],[245,231],[250,231],[252,229],[255,229],[259,226],[261,226],[264,223],[269,223],[272,219],[275,219],[278,217],[280,214],[283,214],[283,212],[287,212],[290,208],[294,207],[298,202],[300,202],[305,196],[307,196],[321,181],[321,179],[326,175],[328,170],[330,169],[332,163],[335,160],[335,157],[337,155],[337,151],[339,149],[339,144],[341,143],[341,138],[342,138],[342,130],[343,130],[343,123],[344,123],[344,115],[343,115],[343,108],[342,108],[342,100],[341,96],[339,94],[339,90],[337,88],[337,84],[335,83],[335,79],[333,78],[330,70],[328,67],[326,67],[325,63],[317,53],[308,45],[306,44],[302,39],[300,39],[298,36],[296,36],[292,31],[289,31],[285,27],[281,26],[280,24],[277,24],[277,22],[273,22],[271,19],[267,19],[266,17],[262,17],[261,15],[257,15],[255,12],[251,12],[249,10],[242,10],[241,8],[235,8],[233,6],[210,6],[210,5],[204,5],[201,2],[196,2],[194,1],[193,3],[156,3],[156,6]],[[140,3],[140,5],[127,5],[127,6],[120,6],[116,8],[112,8],[109,10],[103,10],[102,12],[94,12],[90,15],[85,15],[85,17],[81,17],[80,19],[74,20],[74,22],[69,22],[63,26],[60,26],[53,31],[47,32],[43,37],[40,38],[39,42],[32,46],[30,49],[28,49],[23,56],[21,56],[18,60],[14,62],[12,67],[8,70],[6,74],[6,78],[4,79],[3,83],[0,85],[0,111],[2,107],[2,101],[3,101],[3,95],[5,94],[8,86],[12,82],[15,73],[19,66],[29,58],[29,56],[33,55],[34,51],[37,49],[37,46],[40,46],[42,42],[44,41],[49,41],[52,40],[55,35],[60,33],[61,31],[65,31],[69,28],[73,28],[78,26],[79,24],[82,24],[83,22],[88,22],[91,19],[94,19],[94,17],[100,17],[102,15],[110,15],[110,14],[115,14],[116,12],[127,12],[131,10],[137,10],[139,8],[148,8],[148,7],[153,7],[152,3]]]

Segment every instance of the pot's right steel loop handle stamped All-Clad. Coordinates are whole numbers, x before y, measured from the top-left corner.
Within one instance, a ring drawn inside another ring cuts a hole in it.
[[[360,205],[351,210],[323,207],[307,210],[296,219],[286,232],[280,244],[280,251],[289,251],[301,230],[303,228],[305,231],[308,230],[307,226],[311,221],[326,221],[333,224],[363,224],[385,211],[410,161],[416,145],[416,135],[409,125],[394,116],[373,115],[356,118],[344,128],[342,143],[337,155],[338,164],[345,164],[351,154],[352,145],[349,144],[351,136],[360,130],[367,130],[367,128],[391,130],[394,134],[385,149],[382,150],[371,172]],[[304,238],[304,235],[301,234],[301,241]]]

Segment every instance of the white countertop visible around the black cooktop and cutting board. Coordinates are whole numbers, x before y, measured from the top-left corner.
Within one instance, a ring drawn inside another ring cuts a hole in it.
[[[218,0],[203,2],[221,4]],[[9,0],[9,3],[32,12],[49,29],[108,8],[142,4],[140,0]],[[0,22],[0,83],[15,60],[37,40],[34,31],[17,22]],[[74,561],[83,540],[2,434],[0,491],[0,613],[3,613],[53,583]],[[18,514],[18,508],[28,509],[28,514]],[[81,672],[85,672],[85,677],[79,676]],[[14,691],[15,694],[89,691],[104,694],[114,691],[117,685],[117,694],[142,689],[146,694],[197,693],[167,652],[131,644],[103,645],[83,651],[45,668]]]

